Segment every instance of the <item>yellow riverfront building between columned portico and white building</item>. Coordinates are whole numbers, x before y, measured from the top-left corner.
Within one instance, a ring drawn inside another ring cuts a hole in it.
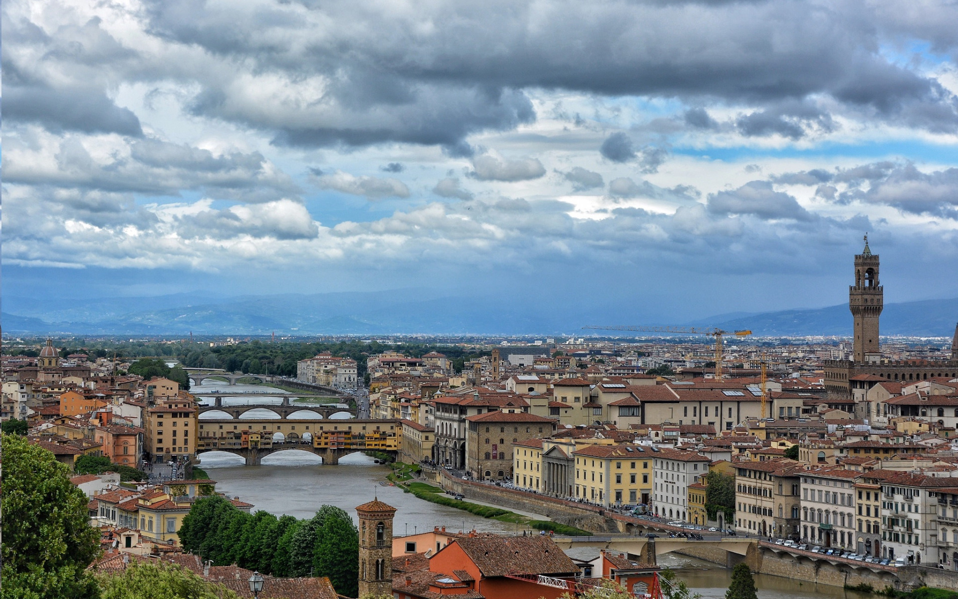
[[[576,496],[605,506],[649,503],[654,456],[650,448],[590,445],[573,455]]]

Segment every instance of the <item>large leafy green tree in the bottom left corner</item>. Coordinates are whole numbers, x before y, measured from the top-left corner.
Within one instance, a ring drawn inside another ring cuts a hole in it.
[[[3,435],[3,462],[2,597],[96,597],[86,566],[100,552],[100,532],[70,470],[15,435]]]

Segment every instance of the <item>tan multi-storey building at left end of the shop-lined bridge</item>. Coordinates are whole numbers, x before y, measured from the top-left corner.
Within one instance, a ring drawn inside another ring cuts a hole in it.
[[[147,443],[144,454],[157,462],[196,454],[196,404],[189,393],[162,400],[147,410]]]

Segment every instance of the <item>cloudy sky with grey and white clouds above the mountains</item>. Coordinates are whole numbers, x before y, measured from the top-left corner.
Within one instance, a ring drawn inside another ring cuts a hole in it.
[[[8,0],[4,294],[958,295],[958,5]]]

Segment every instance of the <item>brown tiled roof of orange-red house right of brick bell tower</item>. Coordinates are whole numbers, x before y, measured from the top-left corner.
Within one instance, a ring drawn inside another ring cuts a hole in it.
[[[513,572],[574,575],[580,571],[548,537],[478,537],[452,542],[462,548],[485,578]]]

